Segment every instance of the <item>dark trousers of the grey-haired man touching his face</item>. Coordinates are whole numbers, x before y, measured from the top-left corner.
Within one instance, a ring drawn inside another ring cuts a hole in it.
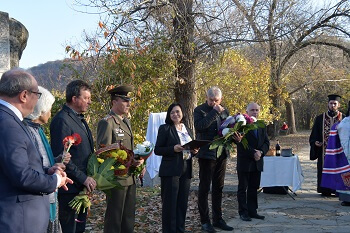
[[[209,223],[208,194],[210,185],[212,186],[212,217],[213,222],[222,219],[222,189],[224,188],[224,179],[226,171],[227,157],[220,156],[216,160],[198,159],[199,163],[199,190],[198,190],[198,209],[201,217],[201,223]]]

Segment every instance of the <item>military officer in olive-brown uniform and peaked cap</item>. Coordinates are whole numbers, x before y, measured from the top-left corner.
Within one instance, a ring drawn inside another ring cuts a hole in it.
[[[129,85],[115,87],[108,91],[111,95],[111,110],[99,121],[97,126],[97,147],[120,142],[127,149],[133,150],[133,134],[129,113],[131,98],[128,93],[134,88]],[[144,161],[135,160],[133,166],[140,166]],[[135,177],[127,174],[117,178],[123,189],[114,188],[107,197],[105,213],[105,233],[129,233],[134,231],[136,183]]]

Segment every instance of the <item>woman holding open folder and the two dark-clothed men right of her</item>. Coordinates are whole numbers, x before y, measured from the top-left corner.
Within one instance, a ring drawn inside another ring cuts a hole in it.
[[[222,92],[214,86],[206,94],[206,102],[194,109],[196,139],[213,140],[218,135],[221,123],[229,116],[229,111],[221,104]],[[260,106],[250,103],[247,114],[258,118]],[[159,168],[162,197],[162,229],[166,233],[185,231],[190,180],[193,177],[192,159],[198,158],[199,190],[198,209],[201,230],[216,232],[215,228],[233,231],[226,224],[222,214],[222,194],[229,151],[220,156],[217,150],[209,149],[209,144],[188,150],[182,145],[194,139],[191,130],[184,124],[184,111],[180,104],[171,104],[167,110],[165,124],[159,127],[155,154],[162,156]],[[252,218],[264,219],[257,213],[257,190],[263,170],[263,156],[269,150],[270,142],[266,128],[249,131],[246,135],[248,147],[241,143],[243,135],[234,135],[237,144],[238,204],[243,221]],[[209,216],[208,196],[211,187],[212,218]]]

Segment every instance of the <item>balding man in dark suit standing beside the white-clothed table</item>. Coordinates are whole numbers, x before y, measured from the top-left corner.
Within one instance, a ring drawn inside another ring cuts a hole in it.
[[[258,119],[260,106],[250,103],[247,106],[247,114]],[[234,135],[237,142],[237,175],[238,175],[238,213],[243,221],[251,221],[251,218],[265,219],[265,216],[257,213],[258,189],[260,186],[261,172],[264,167],[263,157],[269,150],[270,141],[265,128],[251,130],[246,138],[248,147],[241,142],[239,133]]]

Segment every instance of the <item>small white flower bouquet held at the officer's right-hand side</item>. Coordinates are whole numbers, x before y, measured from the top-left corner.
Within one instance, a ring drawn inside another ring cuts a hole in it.
[[[131,173],[135,176],[138,176],[141,181],[141,186],[143,186],[143,174],[142,171],[146,166],[146,160],[151,156],[154,149],[153,143],[149,141],[144,141],[141,144],[136,145],[136,149],[134,150],[136,159],[144,159],[145,162],[138,167],[131,167]]]

